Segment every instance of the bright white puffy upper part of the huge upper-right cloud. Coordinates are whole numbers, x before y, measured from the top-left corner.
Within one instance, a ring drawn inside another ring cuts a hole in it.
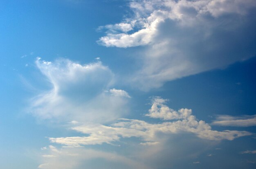
[[[243,16],[254,7],[254,0],[132,0],[130,8],[135,13],[135,18],[126,18],[126,22],[104,27],[123,32],[132,30],[133,26],[139,26],[140,29],[132,34],[108,33],[107,36],[101,37],[100,41],[106,46],[124,48],[145,45],[154,41],[153,35],[161,31],[159,25],[168,19],[182,26],[194,26],[198,22],[207,21],[204,17],[208,15],[213,18],[225,14]]]

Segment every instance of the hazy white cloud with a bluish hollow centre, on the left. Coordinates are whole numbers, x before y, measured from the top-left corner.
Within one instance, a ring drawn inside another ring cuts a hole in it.
[[[38,58],[36,65],[52,85],[31,100],[29,111],[38,118],[107,123],[127,113],[128,93],[108,90],[114,74],[100,61],[81,65],[68,59],[49,62]]]

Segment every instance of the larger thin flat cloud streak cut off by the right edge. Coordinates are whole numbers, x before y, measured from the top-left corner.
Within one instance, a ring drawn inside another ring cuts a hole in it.
[[[212,123],[213,125],[249,127],[256,125],[256,115],[252,116],[229,116],[220,115]]]

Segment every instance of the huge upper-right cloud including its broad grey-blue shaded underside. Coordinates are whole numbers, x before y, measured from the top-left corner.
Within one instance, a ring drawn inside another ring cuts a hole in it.
[[[98,43],[144,46],[129,79],[141,90],[256,55],[254,0],[132,0],[130,9],[133,17],[105,26]],[[118,25],[128,29],[113,31]]]

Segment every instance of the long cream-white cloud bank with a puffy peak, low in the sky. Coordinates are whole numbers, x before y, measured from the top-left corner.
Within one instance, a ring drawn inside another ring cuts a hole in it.
[[[88,136],[49,138],[49,140],[52,143],[58,143],[68,147],[81,147],[82,145],[102,143],[112,144],[113,142],[119,141],[121,137],[137,137],[145,141],[141,145],[156,145],[161,142],[161,138],[157,136],[159,133],[165,135],[192,133],[199,138],[207,140],[234,140],[241,136],[252,135],[252,133],[246,131],[225,130],[220,132],[212,130],[209,124],[202,120],[196,120],[196,117],[192,115],[191,109],[185,108],[176,112],[164,105],[164,99],[160,97],[155,97],[152,103],[153,105],[149,110],[149,114],[146,114],[147,116],[175,121],[152,124],[142,120],[120,119],[117,123],[110,126],[87,123],[72,127],[71,129],[88,134]]]

